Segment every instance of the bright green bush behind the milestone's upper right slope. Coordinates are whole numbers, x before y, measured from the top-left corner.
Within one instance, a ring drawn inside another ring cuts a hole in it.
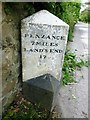
[[[45,9],[49,10],[70,26],[68,36],[69,41],[72,41],[74,25],[79,19],[80,5],[79,2],[56,2],[47,3],[45,7]]]

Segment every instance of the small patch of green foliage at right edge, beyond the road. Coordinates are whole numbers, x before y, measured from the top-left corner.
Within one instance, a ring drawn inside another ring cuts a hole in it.
[[[80,15],[80,21],[85,22],[85,23],[90,23],[90,10],[82,11]]]

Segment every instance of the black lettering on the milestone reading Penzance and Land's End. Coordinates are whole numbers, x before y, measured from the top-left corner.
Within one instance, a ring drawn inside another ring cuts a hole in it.
[[[40,59],[45,59],[47,57],[46,55],[43,55],[44,53],[56,53],[56,54],[60,54],[63,52],[63,50],[61,49],[57,49],[57,47],[59,46],[59,40],[66,40],[66,36],[59,36],[59,35],[38,35],[38,34],[29,34],[29,33],[25,33],[25,38],[27,38],[26,40],[30,40],[30,44],[31,46],[45,46],[45,47],[55,47],[55,48],[30,48],[30,49],[26,49],[24,48],[24,52],[29,53],[42,53],[39,58]],[[31,41],[32,38],[32,41]],[[38,41],[36,41],[36,39],[38,39]],[[40,41],[44,39],[45,41]],[[48,40],[48,41],[46,41]],[[54,40],[53,42],[49,42],[50,40]],[[58,41],[57,41],[58,40]]]

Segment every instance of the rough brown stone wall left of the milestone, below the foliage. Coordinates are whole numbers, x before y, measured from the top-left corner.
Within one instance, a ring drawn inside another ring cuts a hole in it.
[[[12,102],[20,76],[20,31],[14,14],[6,15],[2,6],[2,105]],[[16,17],[17,18],[17,17]]]

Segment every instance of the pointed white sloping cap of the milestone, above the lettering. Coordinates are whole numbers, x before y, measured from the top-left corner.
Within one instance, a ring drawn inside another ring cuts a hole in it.
[[[66,26],[69,27],[64,21],[56,17],[47,10],[41,10],[25,19],[22,20],[24,23],[32,24],[46,24],[46,25],[55,25],[55,26]]]

